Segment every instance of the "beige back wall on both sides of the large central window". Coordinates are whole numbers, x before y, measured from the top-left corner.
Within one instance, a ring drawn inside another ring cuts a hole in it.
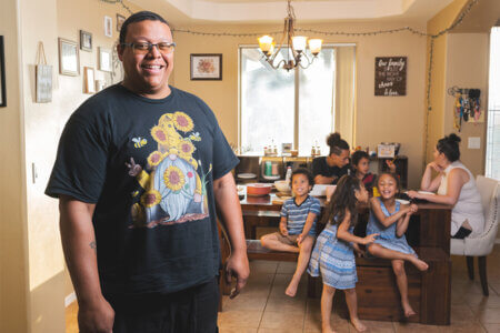
[[[168,19],[168,17],[167,17]],[[334,31],[372,31],[407,26],[320,24],[311,28]],[[302,27],[302,26],[300,26]],[[186,27],[182,27],[186,28]],[[272,26],[188,27],[198,31],[266,32],[280,30]],[[424,29],[424,28],[423,28]],[[238,142],[238,46],[256,44],[257,37],[210,37],[177,33],[174,82],[180,89],[202,98],[216,112],[228,141]],[[408,33],[377,37],[326,37],[324,42],[357,44],[357,124],[352,145],[371,147],[382,141],[401,142],[401,153],[409,157],[410,185],[419,182],[422,165],[422,105],[424,98],[426,39]],[[222,53],[222,81],[191,81],[190,53]],[[408,57],[406,97],[374,97],[374,58]],[[328,133],[324,133],[324,137]]]

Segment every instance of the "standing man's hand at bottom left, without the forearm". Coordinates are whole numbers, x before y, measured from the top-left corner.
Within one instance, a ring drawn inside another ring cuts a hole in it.
[[[114,310],[104,297],[91,304],[80,303],[78,326],[81,333],[112,333]]]

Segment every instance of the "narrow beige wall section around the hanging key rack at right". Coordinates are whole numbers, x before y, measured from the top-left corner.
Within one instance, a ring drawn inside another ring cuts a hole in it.
[[[450,33],[447,44],[446,88],[481,89],[482,112],[488,105],[489,71],[489,34],[488,33]],[[461,131],[453,129],[454,98],[447,93],[444,99],[444,133],[457,133],[461,137],[460,160],[472,174],[484,174],[486,123],[462,122]],[[469,149],[470,137],[481,138],[480,149]]]

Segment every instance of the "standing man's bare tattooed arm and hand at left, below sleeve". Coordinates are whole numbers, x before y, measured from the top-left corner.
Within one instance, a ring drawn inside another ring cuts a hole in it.
[[[114,311],[101,292],[92,225],[96,205],[61,195],[60,230],[66,263],[78,300],[80,332],[111,332]]]

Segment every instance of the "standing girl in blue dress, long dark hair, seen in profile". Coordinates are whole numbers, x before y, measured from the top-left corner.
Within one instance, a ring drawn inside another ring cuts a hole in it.
[[[352,325],[358,332],[367,330],[358,317],[356,296],[356,259],[353,251],[360,253],[358,244],[372,243],[377,234],[358,238],[352,234],[358,220],[358,202],[368,202],[368,191],[363,183],[352,175],[343,175],[323,215],[328,223],[318,236],[309,262],[308,272],[323,280],[321,294],[322,332],[333,332],[330,325],[331,305],[337,289],[343,290]]]

